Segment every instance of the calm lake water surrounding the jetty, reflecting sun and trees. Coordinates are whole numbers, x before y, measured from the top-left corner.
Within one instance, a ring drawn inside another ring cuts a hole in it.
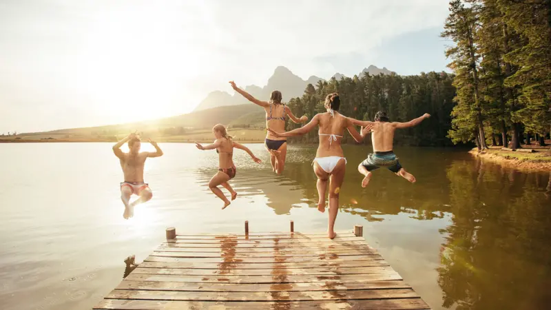
[[[218,156],[161,143],[146,163],[154,197],[123,219],[123,174],[110,143],[0,144],[2,309],[90,309],[141,262],[165,228],[178,233],[325,231],[311,161],[316,146],[289,147],[284,174],[234,154],[239,197],[227,209],[206,184]],[[144,143],[145,150],[150,145]],[[551,301],[550,174],[483,163],[465,149],[397,148],[410,184],[386,169],[362,189],[356,167],[371,149],[347,146],[337,231],[364,238],[433,309],[543,309]]]

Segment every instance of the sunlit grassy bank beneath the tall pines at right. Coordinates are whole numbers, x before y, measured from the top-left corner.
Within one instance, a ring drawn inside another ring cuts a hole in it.
[[[469,154],[475,156],[475,158],[481,158],[483,161],[490,161],[492,163],[503,165],[504,167],[510,167],[528,172],[551,172],[551,159],[548,159],[551,155],[546,154],[546,152],[524,153],[530,154],[526,156],[531,156],[534,159],[519,159],[514,156],[508,156],[508,154],[513,155],[515,153],[516,152],[502,151],[501,149],[488,149],[486,151],[478,152],[478,149],[474,148],[469,151]],[[537,159],[538,157],[542,157],[542,159]]]

